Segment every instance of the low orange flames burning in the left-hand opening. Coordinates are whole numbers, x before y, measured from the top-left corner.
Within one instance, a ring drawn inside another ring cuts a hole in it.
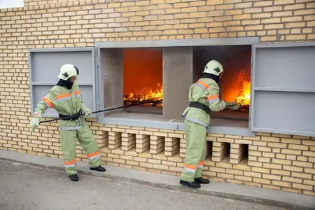
[[[163,99],[163,86],[158,83],[158,88],[153,91],[146,87],[142,88],[140,91],[136,90],[134,92],[130,92],[129,95],[124,97],[124,102],[127,105],[137,104],[137,102],[143,101],[158,101]],[[144,104],[144,106],[148,106],[148,104]],[[163,106],[163,102],[157,102],[149,104],[149,106]]]

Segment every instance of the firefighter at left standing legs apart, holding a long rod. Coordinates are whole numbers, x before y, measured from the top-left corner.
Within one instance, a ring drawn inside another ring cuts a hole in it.
[[[105,172],[106,169],[100,165],[101,157],[97,141],[94,139],[90,128],[85,123],[85,118],[92,116],[90,109],[83,104],[83,97],[78,85],[75,83],[78,78],[78,68],[72,64],[64,64],[59,72],[59,81],[52,87],[48,94],[38,102],[31,120],[31,128],[34,131],[39,126],[43,113],[46,109],[55,109],[59,113],[58,120],[61,150],[64,159],[66,174],[71,181],[78,181],[76,166],[76,139],[82,146],[90,169],[97,172]],[[76,116],[85,113],[83,116]]]

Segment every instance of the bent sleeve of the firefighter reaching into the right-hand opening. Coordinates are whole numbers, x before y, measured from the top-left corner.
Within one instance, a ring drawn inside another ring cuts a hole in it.
[[[220,100],[219,88],[217,84],[209,85],[207,102],[209,102],[209,108],[211,111],[221,111],[225,109],[225,102]]]

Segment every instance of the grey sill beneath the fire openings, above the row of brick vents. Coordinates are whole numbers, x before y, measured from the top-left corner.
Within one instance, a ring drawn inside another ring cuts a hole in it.
[[[151,127],[151,128],[156,128],[156,129],[185,131],[184,123],[173,123],[172,120],[158,121],[158,120],[136,120],[136,119],[128,119],[128,118],[104,117],[104,118],[99,118],[97,120],[97,123],[107,124],[107,125]],[[244,137],[255,137],[255,132],[251,132],[248,128],[243,128],[243,127],[228,127],[228,126],[212,125],[207,129],[207,132],[211,134],[227,134],[227,135],[237,135],[237,136],[244,136]]]

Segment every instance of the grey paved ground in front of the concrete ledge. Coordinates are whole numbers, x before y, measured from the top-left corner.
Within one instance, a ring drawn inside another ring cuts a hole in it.
[[[281,209],[97,176],[74,183],[59,170],[3,160],[0,169],[1,210]]]

